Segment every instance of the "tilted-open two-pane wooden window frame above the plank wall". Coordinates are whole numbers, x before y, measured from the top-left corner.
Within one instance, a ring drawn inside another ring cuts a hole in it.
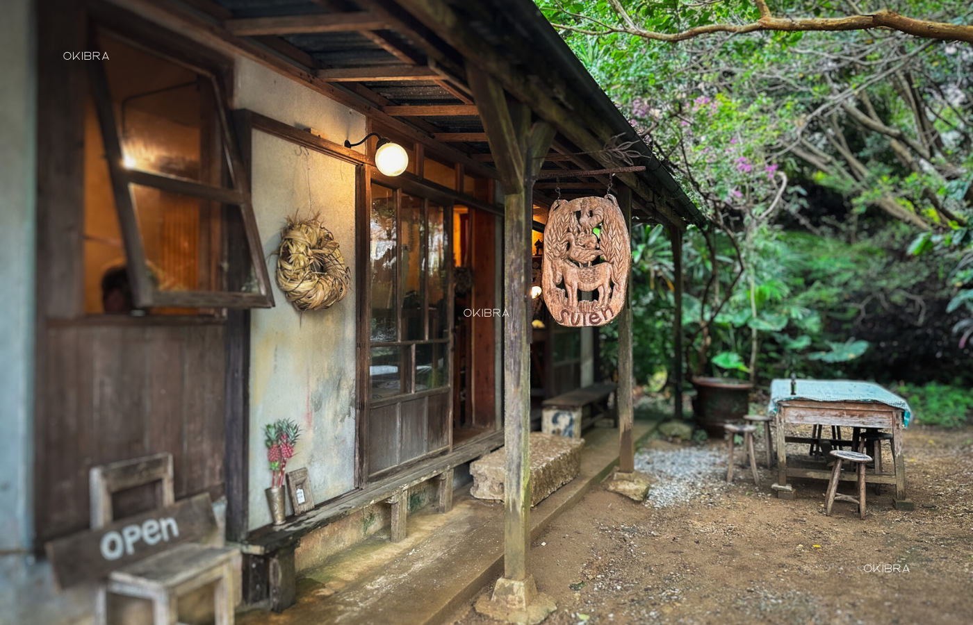
[[[130,35],[126,34],[126,31],[125,26],[108,25],[95,17],[89,26],[90,50],[100,51],[100,37],[102,34],[107,34],[113,39],[124,42],[127,46],[160,56],[207,79],[215,95],[217,118],[223,141],[223,156],[229,166],[230,180],[233,184],[232,188],[216,187],[178,176],[124,167],[122,145],[104,67],[100,62],[89,63],[91,94],[94,99],[98,122],[101,125],[101,136],[108,161],[119,225],[122,228],[126,266],[135,305],[139,308],[156,306],[270,308],[274,305],[273,293],[270,290],[270,275],[267,270],[267,263],[264,260],[263,246],[253,212],[249,177],[230,125],[228,100],[225,97],[224,89],[221,87],[221,83],[225,81],[224,71],[207,67],[199,63],[199,59],[186,58],[180,54],[178,48],[175,50],[167,49],[168,47],[155,39],[143,39],[141,33],[139,33],[139,40],[135,41]],[[199,199],[217,201],[237,207],[240,211],[243,231],[249,248],[249,260],[253,264],[257,279],[258,293],[174,292],[163,291],[156,287],[148,272],[145,247],[142,243],[141,231],[135,214],[132,190],[135,185],[191,195]]]

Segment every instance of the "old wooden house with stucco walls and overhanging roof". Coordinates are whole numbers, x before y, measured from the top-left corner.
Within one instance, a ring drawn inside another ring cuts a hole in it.
[[[700,220],[530,0],[10,0],[0,32],[3,622],[90,614],[43,545],[89,527],[92,467],[159,452],[240,545],[244,600],[286,594],[600,380],[595,329],[531,324],[553,202],[611,187],[676,241]],[[327,309],[275,283],[293,217],[349,268]],[[315,507],[271,526],[277,419]]]

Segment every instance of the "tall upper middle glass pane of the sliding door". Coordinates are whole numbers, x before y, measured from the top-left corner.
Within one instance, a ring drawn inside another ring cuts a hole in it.
[[[425,272],[423,240],[425,223],[422,220],[422,200],[402,193],[402,209],[399,213],[399,258],[402,259],[402,339],[425,338],[422,310],[425,301]]]

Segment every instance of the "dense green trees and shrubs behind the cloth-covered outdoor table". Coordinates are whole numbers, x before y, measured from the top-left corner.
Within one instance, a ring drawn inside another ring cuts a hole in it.
[[[791,372],[885,382],[960,375],[973,383],[960,353],[973,336],[973,228],[962,226],[973,214],[968,46],[883,30],[672,44],[571,29],[623,25],[612,3],[537,4],[567,26],[564,40],[712,221],[684,239],[687,353],[679,357],[689,370],[741,377],[752,369],[762,380]],[[888,8],[950,21],[967,16],[967,4],[901,0]],[[621,6],[637,26],[665,32],[759,17],[743,0]],[[771,9],[781,17],[848,11],[808,2]],[[921,133],[922,116],[909,104],[916,95],[930,124]],[[901,130],[916,165],[844,104]],[[920,156],[913,146],[928,136],[931,152]],[[823,189],[841,204],[826,218]],[[922,220],[932,229],[917,236]],[[634,226],[631,238],[634,367],[644,383],[675,358],[673,265],[662,226]],[[946,349],[943,328],[960,351]],[[600,331],[611,370],[617,330]]]

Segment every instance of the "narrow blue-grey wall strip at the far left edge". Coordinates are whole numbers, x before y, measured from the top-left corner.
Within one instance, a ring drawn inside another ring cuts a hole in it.
[[[54,590],[33,556],[36,27],[33,3],[5,0],[0,19],[0,625],[69,623],[89,588]],[[65,61],[68,62],[68,61]]]

